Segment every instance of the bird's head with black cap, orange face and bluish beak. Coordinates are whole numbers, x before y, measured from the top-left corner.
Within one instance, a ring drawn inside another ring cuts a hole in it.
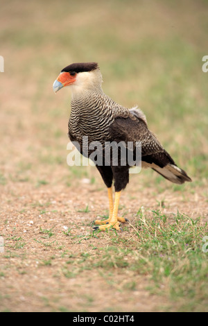
[[[96,62],[78,62],[62,69],[53,83],[53,91],[56,93],[62,87],[71,86],[73,91],[80,92],[101,83],[102,76]]]

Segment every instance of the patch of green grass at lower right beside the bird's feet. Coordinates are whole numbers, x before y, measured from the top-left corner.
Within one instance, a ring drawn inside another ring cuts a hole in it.
[[[208,234],[207,223],[203,224],[200,217],[193,219],[180,213],[170,217],[154,210],[152,215],[149,218],[140,209],[134,223],[125,227],[133,228],[130,236],[121,237],[112,230],[107,232],[111,246],[69,255],[70,268],[64,266],[63,274],[79,277],[83,271],[98,268],[119,291],[137,290],[137,277],[146,275],[150,278],[148,291],[172,302],[173,307],[167,304],[167,311],[206,311],[208,254],[202,250],[202,239]],[[103,232],[97,232],[100,236]],[[85,237],[89,239],[92,237]],[[126,275],[128,271],[131,279],[120,288],[114,275]]]

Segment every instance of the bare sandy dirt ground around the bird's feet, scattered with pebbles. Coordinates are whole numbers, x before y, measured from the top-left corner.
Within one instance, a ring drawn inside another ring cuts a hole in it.
[[[93,168],[92,168],[93,169]],[[5,241],[0,255],[1,311],[164,311],[171,309],[166,297],[148,290],[149,275],[136,275],[130,270],[114,267],[80,269],[84,254],[94,259],[103,248],[114,246],[114,236],[99,233],[90,237],[90,223],[107,214],[107,194],[101,180],[96,185],[78,180],[76,187],[41,185],[27,182],[8,184],[1,192],[1,234]],[[139,180],[139,176],[134,179]],[[121,214],[134,223],[141,205],[144,209],[158,209],[154,187],[141,189],[132,180],[121,196]],[[6,188],[6,189],[5,189]],[[137,190],[135,190],[135,188]],[[139,189],[140,188],[140,189]],[[133,197],[133,198],[132,198]],[[178,192],[164,191],[157,200],[164,200],[163,212],[180,212],[189,216],[205,216],[207,202],[202,190],[189,195],[189,201]],[[89,212],[79,212],[88,205]],[[198,210],[200,207],[200,212]],[[64,234],[68,230],[70,237]],[[44,230],[51,230],[48,236]],[[80,238],[81,237],[81,238]],[[133,229],[119,234],[117,246],[125,247],[125,240],[134,237]],[[20,238],[20,239],[19,239]],[[73,268],[70,273],[71,264]],[[95,258],[96,259],[96,258]],[[128,259],[128,257],[126,258]],[[3,267],[3,268],[2,268]],[[69,275],[67,273],[69,272]],[[125,284],[135,282],[134,290]]]

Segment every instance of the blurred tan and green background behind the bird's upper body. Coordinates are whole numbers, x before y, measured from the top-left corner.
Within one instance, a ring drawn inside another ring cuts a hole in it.
[[[63,67],[87,61],[98,62],[107,95],[144,110],[150,130],[195,181],[190,187],[205,185],[207,33],[207,0],[1,3],[1,185],[53,178],[70,185],[68,173],[87,173],[66,164],[69,89],[52,90]]]

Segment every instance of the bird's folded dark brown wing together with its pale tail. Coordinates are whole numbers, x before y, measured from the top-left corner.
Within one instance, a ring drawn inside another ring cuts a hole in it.
[[[171,182],[181,184],[191,181],[187,173],[178,168],[171,155],[159,143],[153,132],[148,130],[146,121],[130,114],[126,117],[116,117],[110,126],[111,141],[141,141],[141,163],[144,167],[151,167],[157,173]],[[135,147],[134,147],[135,148]]]

